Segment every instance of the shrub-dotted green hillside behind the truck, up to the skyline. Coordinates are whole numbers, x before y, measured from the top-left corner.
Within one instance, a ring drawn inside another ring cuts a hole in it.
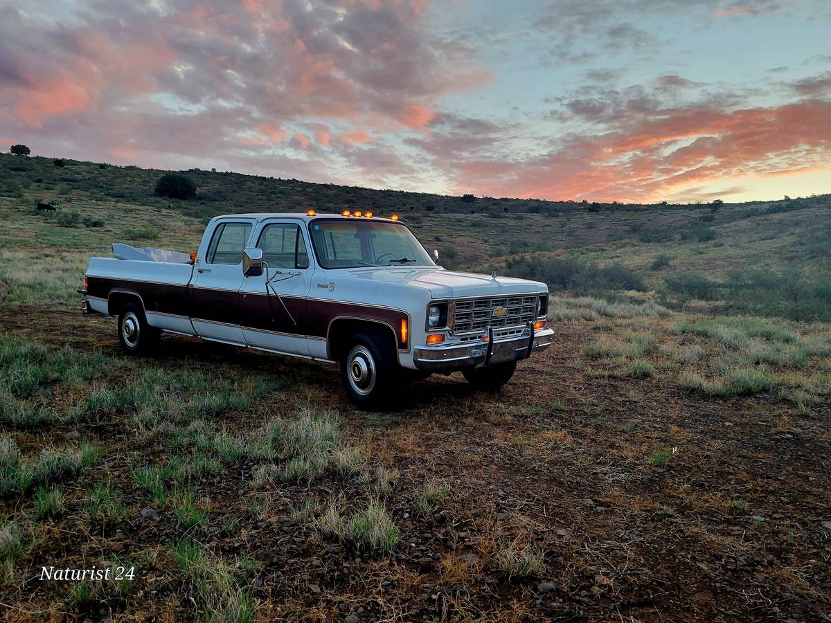
[[[0,156],[0,302],[68,304],[91,253],[109,253],[116,241],[193,249],[217,214],[361,208],[401,214],[427,248],[439,249],[445,267],[676,309],[831,318],[828,194],[717,211],[712,204],[471,202],[190,170],[198,194],[180,201],[155,196],[160,170],[61,162]],[[38,202],[57,212],[38,212]]]

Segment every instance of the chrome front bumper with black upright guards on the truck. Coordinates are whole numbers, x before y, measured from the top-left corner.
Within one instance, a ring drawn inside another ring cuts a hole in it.
[[[544,351],[551,346],[554,331],[548,327],[535,331],[534,342],[530,345],[529,338],[530,332],[526,330],[520,336],[511,336],[504,340],[417,346],[413,351],[413,364],[418,370],[425,372],[452,372],[525,359],[531,353]],[[489,347],[490,345],[493,346]]]

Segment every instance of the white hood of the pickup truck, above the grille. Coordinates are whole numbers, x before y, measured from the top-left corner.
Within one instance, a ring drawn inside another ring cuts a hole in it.
[[[357,268],[350,277],[396,283],[430,291],[430,298],[499,297],[548,292],[544,283],[515,277],[490,277],[475,272],[448,271],[441,267]]]

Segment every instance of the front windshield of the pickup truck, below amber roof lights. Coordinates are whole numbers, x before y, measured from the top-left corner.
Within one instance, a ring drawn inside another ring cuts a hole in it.
[[[401,223],[319,219],[309,226],[317,261],[324,268],[435,266],[421,243]]]

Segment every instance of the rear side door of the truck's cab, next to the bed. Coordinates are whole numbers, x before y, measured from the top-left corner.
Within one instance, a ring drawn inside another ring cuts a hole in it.
[[[219,223],[204,258],[195,266],[190,320],[197,335],[205,339],[245,344],[239,323],[239,287],[243,283],[243,248],[253,226],[253,219],[244,218]]]

